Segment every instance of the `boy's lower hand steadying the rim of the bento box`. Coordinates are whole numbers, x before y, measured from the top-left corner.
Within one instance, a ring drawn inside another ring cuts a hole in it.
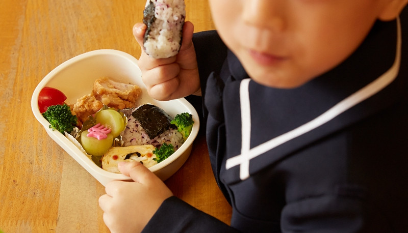
[[[121,162],[120,172],[134,182],[112,181],[106,186],[99,206],[105,212],[104,222],[112,232],[140,232],[172,196],[170,189],[149,169],[138,162]]]

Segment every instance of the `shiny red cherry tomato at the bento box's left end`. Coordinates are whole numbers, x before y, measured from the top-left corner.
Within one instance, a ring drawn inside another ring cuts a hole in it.
[[[60,90],[45,86],[38,95],[38,107],[43,113],[49,106],[63,104],[67,97]]]

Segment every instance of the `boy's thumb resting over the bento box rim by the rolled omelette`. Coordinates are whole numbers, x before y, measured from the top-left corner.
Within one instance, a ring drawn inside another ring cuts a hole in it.
[[[157,178],[147,167],[136,161],[120,162],[118,168],[122,174],[138,183],[145,183],[151,178]]]

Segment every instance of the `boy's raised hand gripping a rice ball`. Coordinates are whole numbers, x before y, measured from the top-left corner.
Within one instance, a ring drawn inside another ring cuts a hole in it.
[[[139,68],[149,95],[157,100],[171,100],[191,94],[201,95],[197,59],[192,41],[194,26],[186,21],[183,26],[183,42],[180,52],[167,59],[153,59],[143,50],[144,23],[136,23],[133,35],[142,53]]]

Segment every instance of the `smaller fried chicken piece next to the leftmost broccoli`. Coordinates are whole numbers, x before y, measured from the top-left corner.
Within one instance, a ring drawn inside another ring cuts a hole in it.
[[[82,124],[88,119],[88,116],[95,114],[103,106],[104,104],[95,99],[92,94],[79,98],[77,102],[71,106],[72,114],[77,115],[78,118],[77,126],[82,128]]]

